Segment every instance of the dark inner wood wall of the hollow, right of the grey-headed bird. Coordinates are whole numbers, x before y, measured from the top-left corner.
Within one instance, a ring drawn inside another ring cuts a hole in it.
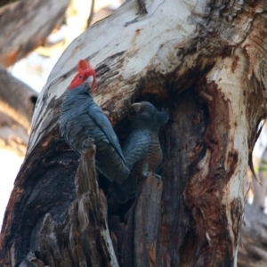
[[[165,160],[162,166],[163,192],[158,231],[157,264],[194,265],[196,224],[186,208],[183,192],[190,177],[198,172],[204,157],[209,114],[198,93],[190,88],[174,98],[170,122],[162,137]],[[156,266],[157,266],[156,264]]]

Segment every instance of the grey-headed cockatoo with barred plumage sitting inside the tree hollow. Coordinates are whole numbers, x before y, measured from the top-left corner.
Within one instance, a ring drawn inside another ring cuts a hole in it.
[[[132,131],[125,140],[123,153],[131,174],[121,185],[111,183],[108,196],[109,214],[125,203],[137,190],[138,182],[148,174],[156,173],[162,161],[158,140],[160,125],[168,121],[168,110],[158,111],[150,102],[134,103],[130,109]]]

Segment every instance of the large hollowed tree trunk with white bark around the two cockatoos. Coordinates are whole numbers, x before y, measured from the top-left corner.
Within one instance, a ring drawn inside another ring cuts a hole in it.
[[[162,182],[150,175],[125,221],[109,218],[109,231],[101,210],[94,224],[83,224],[102,239],[95,236],[95,247],[77,239],[77,255],[85,255],[79,263],[101,265],[102,247],[113,266],[236,266],[248,154],[266,116],[266,1],[155,0],[146,8],[136,15],[138,4],[126,2],[70,44],[54,67],[4,217],[0,264],[30,257],[52,266],[77,263],[66,252],[73,247],[69,231],[49,249],[47,239],[79,218],[70,213],[80,199],[78,158],[61,138],[59,116],[77,61],[86,59],[97,71],[94,100],[119,137],[127,134],[134,101],[168,107],[170,120],[160,133]],[[68,263],[54,255],[56,247]]]

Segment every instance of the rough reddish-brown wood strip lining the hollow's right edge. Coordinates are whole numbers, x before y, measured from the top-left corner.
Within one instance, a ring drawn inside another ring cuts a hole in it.
[[[237,167],[239,153],[236,150],[227,151],[230,110],[225,96],[214,81],[204,85],[200,82],[198,86],[200,100],[207,104],[209,124],[203,144],[205,156],[198,162],[198,173],[190,178],[184,191],[186,205],[194,221],[198,222],[195,229],[198,245],[195,249],[199,258],[195,257],[194,264],[231,266],[233,244],[229,242],[230,233],[225,229],[228,218],[227,210],[223,208],[223,189]]]

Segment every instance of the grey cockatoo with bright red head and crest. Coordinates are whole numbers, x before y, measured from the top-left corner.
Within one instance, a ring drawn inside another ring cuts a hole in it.
[[[94,69],[87,61],[79,61],[77,75],[61,104],[61,134],[78,155],[83,150],[83,142],[93,138],[97,169],[109,181],[121,184],[130,171],[108,117],[93,101],[91,93],[96,85]]]

